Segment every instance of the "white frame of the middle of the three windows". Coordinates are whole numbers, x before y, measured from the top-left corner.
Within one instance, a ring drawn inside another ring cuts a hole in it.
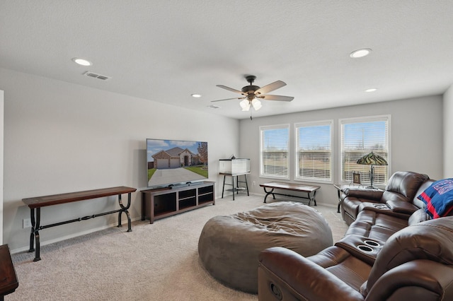
[[[320,178],[320,177],[303,177],[299,175],[299,128],[302,127],[314,127],[314,126],[330,126],[330,178]],[[325,183],[325,184],[332,184],[333,183],[333,119],[328,120],[319,120],[315,122],[297,122],[294,123],[294,181],[302,181],[302,182],[316,182],[316,183]]]

